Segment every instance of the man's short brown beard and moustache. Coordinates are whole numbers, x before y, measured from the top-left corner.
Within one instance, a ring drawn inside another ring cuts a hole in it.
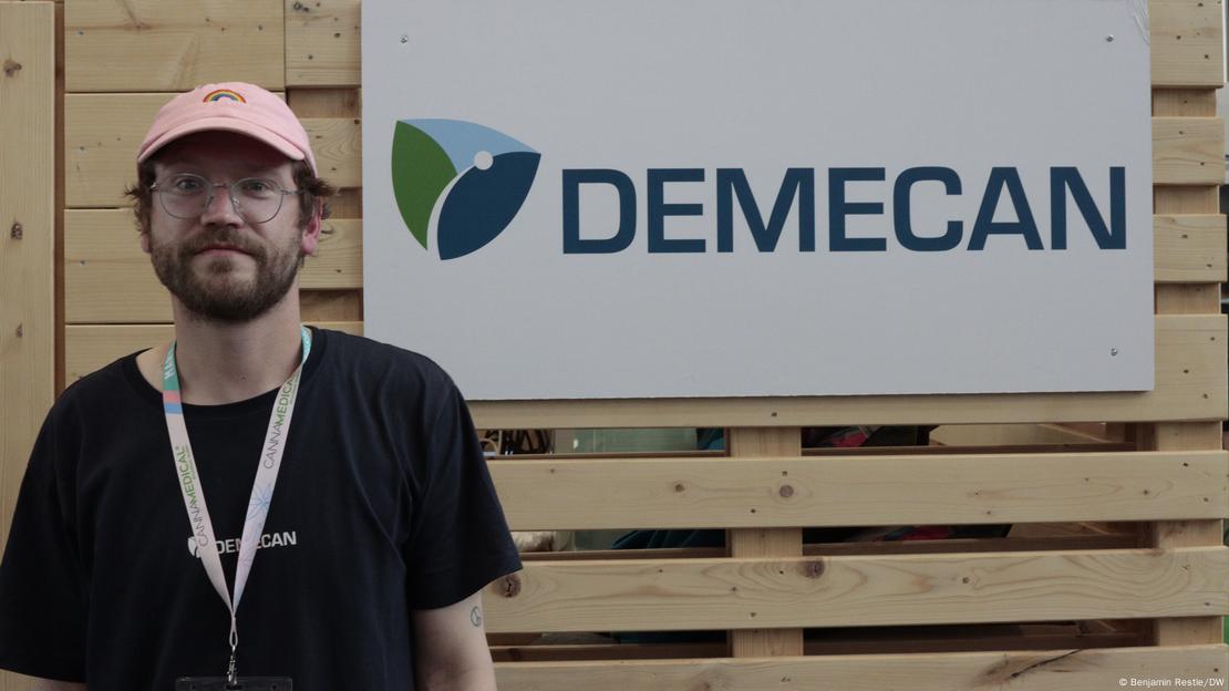
[[[267,250],[222,229],[177,246],[156,242],[151,235],[150,255],[159,280],[188,311],[205,320],[234,323],[263,315],[290,291],[302,257],[299,241],[295,235],[286,246]],[[216,243],[246,252],[256,262],[254,278],[247,282],[226,275],[236,270],[236,261],[242,261],[237,257],[211,257],[194,270],[190,263],[197,252]]]

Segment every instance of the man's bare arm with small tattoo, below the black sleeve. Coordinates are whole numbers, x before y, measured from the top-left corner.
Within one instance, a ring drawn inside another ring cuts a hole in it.
[[[414,610],[415,682],[424,691],[495,691],[482,625],[482,593],[438,610]]]

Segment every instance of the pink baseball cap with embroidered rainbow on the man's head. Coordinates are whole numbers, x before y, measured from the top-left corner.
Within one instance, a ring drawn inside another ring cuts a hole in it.
[[[290,160],[307,161],[316,172],[307,132],[290,106],[259,86],[241,81],[198,86],[162,106],[136,151],[136,162],[181,136],[214,129],[246,134]]]

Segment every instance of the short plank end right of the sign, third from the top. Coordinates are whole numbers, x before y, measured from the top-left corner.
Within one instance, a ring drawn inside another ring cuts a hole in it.
[[[1225,216],[1165,214],[1153,218],[1156,283],[1224,283]]]

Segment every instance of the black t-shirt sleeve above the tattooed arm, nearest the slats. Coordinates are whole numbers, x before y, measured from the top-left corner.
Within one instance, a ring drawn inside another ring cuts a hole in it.
[[[410,609],[458,602],[521,568],[469,409],[449,382],[425,430],[426,484],[412,511],[407,548]]]

